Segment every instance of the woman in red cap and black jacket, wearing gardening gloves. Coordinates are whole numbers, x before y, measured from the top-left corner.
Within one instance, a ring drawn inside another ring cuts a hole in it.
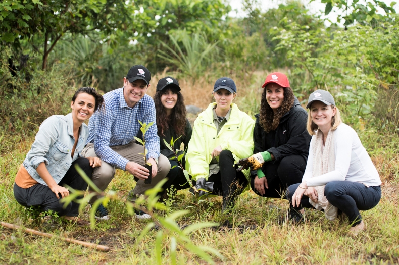
[[[311,136],[307,113],[289,87],[286,75],[266,77],[259,114],[255,115],[254,155],[238,165],[251,168],[251,188],[267,198],[285,198],[288,186],[302,181]]]

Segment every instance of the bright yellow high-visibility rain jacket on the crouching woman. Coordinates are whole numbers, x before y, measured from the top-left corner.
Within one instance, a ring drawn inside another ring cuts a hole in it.
[[[198,115],[188,144],[186,169],[194,180],[199,178],[208,180],[209,164],[212,160],[211,153],[219,145],[223,150],[227,149],[233,153],[235,163],[253,155],[255,121],[240,111],[236,104],[231,103],[229,120],[217,135],[213,121],[214,105],[216,103],[209,104],[208,108]],[[243,171],[243,173],[248,178],[249,171]]]

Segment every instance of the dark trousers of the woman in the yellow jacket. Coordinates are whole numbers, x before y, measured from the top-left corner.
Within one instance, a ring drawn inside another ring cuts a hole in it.
[[[233,165],[234,158],[231,151],[221,151],[219,154],[220,171],[208,178],[208,182],[213,181],[214,183],[211,194],[223,196],[223,198],[229,197],[234,201],[234,197],[243,191],[243,188],[248,184],[248,180],[245,178],[244,173],[236,171],[238,166]]]

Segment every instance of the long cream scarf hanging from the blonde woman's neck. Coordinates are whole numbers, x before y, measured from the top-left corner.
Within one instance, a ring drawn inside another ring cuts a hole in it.
[[[334,131],[328,131],[327,139],[323,148],[323,133],[318,130],[315,144],[313,145],[313,175],[318,177],[335,170],[335,150],[334,150]],[[318,201],[315,203],[311,199],[309,202],[318,210],[324,209],[324,214],[328,220],[337,217],[337,207],[331,205],[324,196],[324,186],[316,186],[314,189],[318,194]]]

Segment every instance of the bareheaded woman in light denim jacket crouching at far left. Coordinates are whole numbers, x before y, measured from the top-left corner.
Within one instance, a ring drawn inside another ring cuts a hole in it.
[[[53,210],[67,220],[78,221],[79,204],[63,207],[61,198],[69,195],[68,185],[85,191],[87,183],[77,173],[75,165],[91,176],[92,168],[101,165],[97,157],[82,158],[88,136],[83,122],[103,104],[103,96],[94,88],[79,88],[71,101],[72,112],[53,115],[39,128],[35,141],[15,177],[14,196],[21,205],[37,206],[40,211]]]

